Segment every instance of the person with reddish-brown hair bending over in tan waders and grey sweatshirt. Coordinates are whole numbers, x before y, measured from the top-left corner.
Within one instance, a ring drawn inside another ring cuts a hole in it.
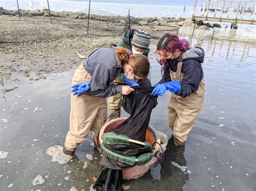
[[[70,130],[66,135],[63,153],[73,156],[76,147],[93,131],[93,143],[99,147],[98,136],[107,113],[106,97],[134,89],[115,80],[138,86],[137,80],[149,74],[150,62],[144,55],[130,55],[123,47],[103,47],[89,55],[72,78]],[[134,82],[133,82],[134,81]]]

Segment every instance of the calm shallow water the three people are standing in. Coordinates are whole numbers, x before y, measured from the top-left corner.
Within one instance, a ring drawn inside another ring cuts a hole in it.
[[[228,41],[194,40],[205,49],[204,108],[185,147],[171,144],[164,161],[142,178],[124,181],[128,190],[255,190],[255,58],[256,47]],[[160,67],[151,47],[152,84]],[[89,190],[100,173],[100,154],[91,134],[68,164],[51,162],[47,148],[62,146],[69,130],[70,81],[74,71],[47,75],[46,80],[3,84],[1,93],[1,190]],[[20,79],[21,77],[19,77]],[[167,104],[158,98],[150,124],[171,138]],[[122,114],[127,116],[127,114]],[[93,160],[86,158],[92,154]],[[84,169],[84,162],[88,162]],[[33,186],[37,175],[45,182]],[[70,180],[65,180],[69,176]],[[13,183],[14,185],[10,185]],[[61,184],[61,185],[60,185]],[[10,186],[9,186],[10,185]],[[8,188],[8,186],[10,188]],[[11,187],[12,186],[12,187]]]

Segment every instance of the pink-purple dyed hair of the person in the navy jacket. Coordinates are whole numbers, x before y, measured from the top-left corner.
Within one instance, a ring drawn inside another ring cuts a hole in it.
[[[157,49],[156,49],[156,59],[160,65],[164,67],[166,63],[166,52],[174,53],[175,51],[187,51],[190,49],[190,45],[186,39],[179,39],[177,34],[172,32],[165,33],[161,38],[158,40]],[[164,59],[158,60],[158,51],[164,52]]]

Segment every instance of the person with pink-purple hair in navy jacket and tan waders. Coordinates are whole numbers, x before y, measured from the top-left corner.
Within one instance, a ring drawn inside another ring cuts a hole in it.
[[[186,39],[180,40],[174,33],[165,33],[157,43],[156,57],[164,73],[151,95],[163,96],[166,90],[172,93],[168,114],[176,146],[185,144],[203,108],[205,80],[201,63],[204,55],[203,48],[191,48]]]

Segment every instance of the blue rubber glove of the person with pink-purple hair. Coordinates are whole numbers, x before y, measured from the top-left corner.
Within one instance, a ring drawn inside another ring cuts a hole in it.
[[[156,85],[154,85],[154,86],[156,86]],[[163,96],[166,90],[169,90],[172,93],[178,93],[181,90],[179,81],[171,81],[171,82],[165,82],[162,84],[158,84],[156,86],[156,88],[153,89],[151,95],[152,96]]]

